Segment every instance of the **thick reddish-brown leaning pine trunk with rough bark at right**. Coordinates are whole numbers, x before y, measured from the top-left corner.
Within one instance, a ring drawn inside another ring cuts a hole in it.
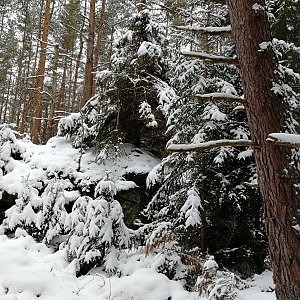
[[[268,134],[285,131],[287,107],[283,97],[272,91],[278,61],[273,51],[260,49],[261,43],[271,41],[265,1],[228,0],[228,4],[250,132],[258,145],[254,155],[265,205],[276,296],[278,300],[299,300],[300,238],[292,228],[299,200],[289,166],[291,153],[266,141]]]

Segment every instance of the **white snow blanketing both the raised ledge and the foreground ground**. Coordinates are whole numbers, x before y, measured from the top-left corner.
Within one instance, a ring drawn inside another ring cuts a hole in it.
[[[5,144],[5,140],[9,142]],[[2,193],[22,195],[26,184],[37,187],[47,182],[52,174],[60,174],[66,204],[80,196],[78,190],[72,190],[70,178],[77,187],[84,189],[110,176],[117,190],[128,190],[135,187],[135,183],[126,180],[126,174],[147,174],[158,163],[151,154],[129,144],[119,149],[121,155],[118,158],[97,164],[92,149],[74,149],[65,138],[56,137],[46,145],[34,145],[28,140],[17,140],[11,131],[4,128],[2,141],[0,159],[5,169],[0,174]],[[30,221],[34,220],[32,211],[28,215],[25,210],[23,215],[14,214],[9,226],[14,226],[13,223],[20,222],[22,218],[25,222],[30,218]],[[117,269],[118,274],[122,274],[120,277],[111,276],[97,268],[87,275],[76,277],[76,262],[68,260],[65,248],[53,251],[45,243],[37,243],[21,228],[16,229],[14,237],[7,237],[3,232],[0,234],[1,300],[200,299],[197,292],[186,291],[181,282],[169,280],[158,273],[155,255],[146,255],[143,247],[132,253],[128,250],[124,259],[119,259]],[[240,300],[275,299],[269,271],[246,280],[243,286],[238,291]]]

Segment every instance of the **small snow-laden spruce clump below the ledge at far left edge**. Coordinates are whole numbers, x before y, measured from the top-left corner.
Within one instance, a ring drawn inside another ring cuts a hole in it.
[[[67,212],[64,186],[54,176],[45,181],[45,189],[39,195],[40,186],[28,177],[23,181],[25,188],[18,195],[15,205],[6,211],[2,228],[6,233],[21,228],[37,241],[51,244],[55,237],[65,234]]]

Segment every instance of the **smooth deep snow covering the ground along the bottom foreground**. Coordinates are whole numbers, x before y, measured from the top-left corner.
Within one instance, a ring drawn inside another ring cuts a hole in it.
[[[149,266],[142,253],[132,257],[126,268],[129,276],[109,277],[92,270],[76,278],[66,253],[52,253],[30,236],[9,239],[0,236],[1,300],[196,300],[198,293],[187,292]],[[249,288],[239,292],[240,300],[274,300],[271,272],[247,280]],[[204,300],[204,299],[203,299]]]

